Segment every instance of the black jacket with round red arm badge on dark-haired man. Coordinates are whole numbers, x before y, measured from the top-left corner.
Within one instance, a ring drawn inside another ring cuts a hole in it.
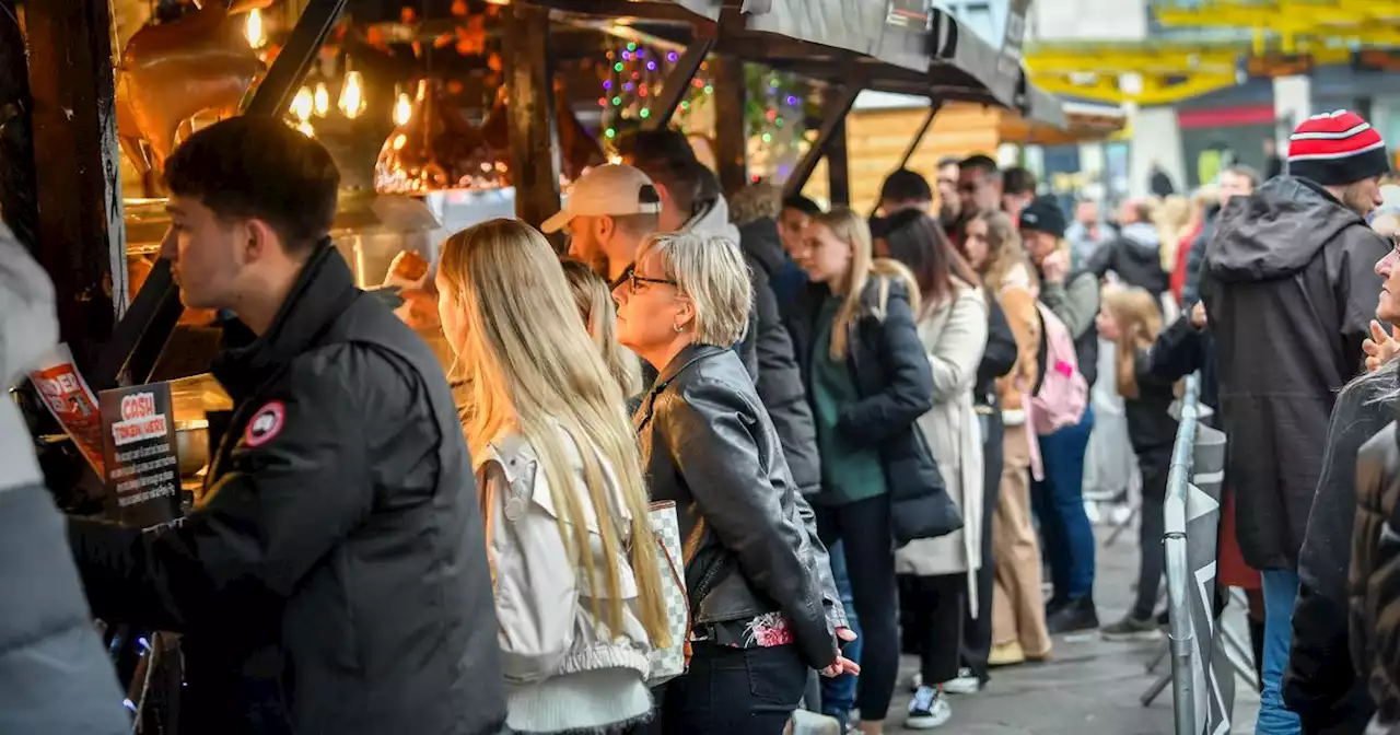
[[[202,504],[146,533],[70,522],[99,617],[183,633],[182,731],[498,731],[486,536],[427,344],[323,244],[214,377],[235,407]]]

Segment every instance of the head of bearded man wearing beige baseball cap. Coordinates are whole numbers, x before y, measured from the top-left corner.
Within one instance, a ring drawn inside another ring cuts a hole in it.
[[[608,164],[575,181],[564,210],[540,228],[568,232],[568,255],[613,283],[659,221],[661,195],[651,179],[630,165]]]

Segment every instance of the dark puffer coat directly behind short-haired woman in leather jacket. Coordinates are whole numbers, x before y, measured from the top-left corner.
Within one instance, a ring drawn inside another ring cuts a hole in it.
[[[741,225],[739,245],[752,272],[753,316],[757,322],[749,326],[749,333],[759,360],[759,398],[778,430],[792,482],[799,493],[811,496],[822,490],[822,458],[816,449],[812,406],[792,353],[792,337],[773,293],[771,279],[787,260],[777,223],[763,218]]]

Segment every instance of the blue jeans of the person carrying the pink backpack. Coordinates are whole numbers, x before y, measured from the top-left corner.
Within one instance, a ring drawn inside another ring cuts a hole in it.
[[[1044,480],[1032,480],[1030,503],[1050,561],[1050,606],[1093,594],[1093,526],[1084,511],[1084,452],[1091,431],[1093,409],[1085,407],[1078,424],[1040,437]]]

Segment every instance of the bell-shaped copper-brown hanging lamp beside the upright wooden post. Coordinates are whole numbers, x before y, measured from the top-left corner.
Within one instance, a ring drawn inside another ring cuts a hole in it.
[[[423,78],[407,120],[389,133],[379,150],[374,189],[395,195],[484,192],[507,186],[507,172],[508,165],[482,132],[442,98],[442,84]]]

